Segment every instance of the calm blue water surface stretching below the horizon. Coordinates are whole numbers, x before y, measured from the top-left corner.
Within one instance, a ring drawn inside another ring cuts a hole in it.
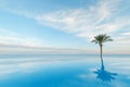
[[[0,87],[130,87],[130,55],[0,55]]]

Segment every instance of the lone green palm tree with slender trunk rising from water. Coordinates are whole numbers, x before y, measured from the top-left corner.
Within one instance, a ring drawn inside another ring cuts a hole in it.
[[[107,42],[107,41],[113,41],[113,39],[110,39],[110,36],[107,36],[106,34],[102,34],[102,35],[94,36],[94,39],[92,40],[92,42],[99,44],[99,46],[100,46],[101,62],[102,62],[102,63],[103,63],[103,58],[102,58],[103,44],[104,44],[104,42]]]

